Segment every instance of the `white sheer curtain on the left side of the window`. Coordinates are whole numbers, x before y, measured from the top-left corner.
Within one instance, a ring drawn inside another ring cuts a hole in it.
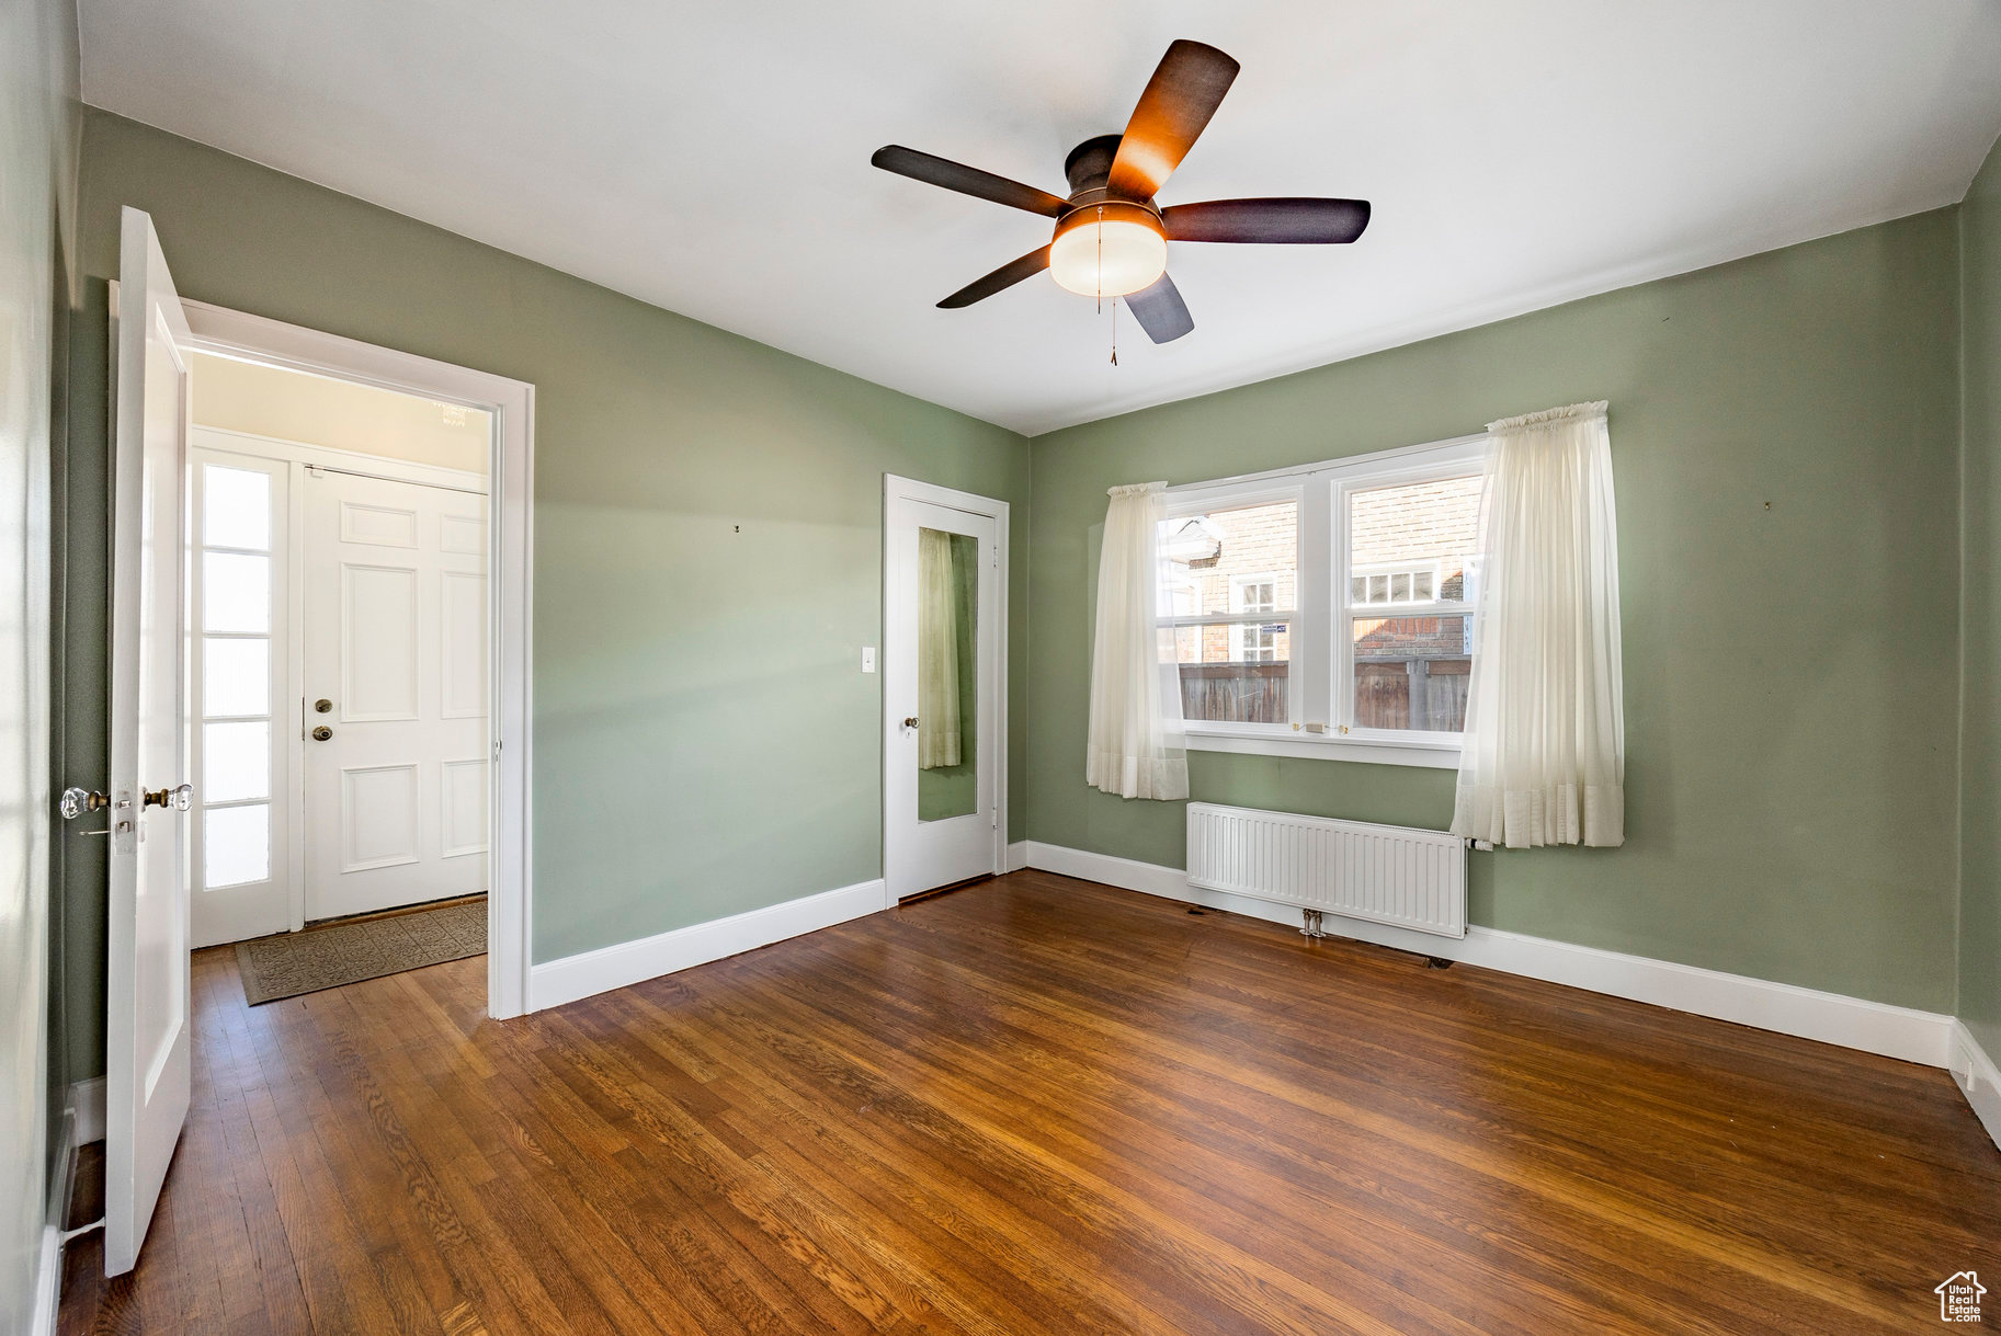
[[[1165,482],[1113,488],[1105,510],[1085,782],[1121,798],[1189,796],[1175,636],[1155,626],[1165,492]]]

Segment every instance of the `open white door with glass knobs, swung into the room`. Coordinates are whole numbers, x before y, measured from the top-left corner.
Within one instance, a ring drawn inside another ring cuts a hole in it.
[[[112,332],[110,968],[104,1272],[132,1270],[188,1116],[182,732],[188,320],[152,218],[124,210]],[[150,792],[148,792],[150,790]]]

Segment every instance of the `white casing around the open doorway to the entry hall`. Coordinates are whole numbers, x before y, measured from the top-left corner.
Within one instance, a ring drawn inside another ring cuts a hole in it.
[[[534,928],[534,386],[208,302],[182,300],[192,346],[494,416],[486,496],[492,570],[488,664],[494,770],[488,790],[486,1014],[528,1010]]]

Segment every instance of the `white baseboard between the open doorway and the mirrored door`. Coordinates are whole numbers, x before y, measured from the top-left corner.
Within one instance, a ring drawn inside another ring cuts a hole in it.
[[[844,924],[882,908],[882,878],[858,882],[816,896],[768,904],[706,924],[674,928],[636,942],[620,942],[578,952],[528,968],[528,1010],[562,1006],[598,992],[624,988],[674,970],[686,970],[724,956],[736,956],[758,946],[770,946],[802,932]]]

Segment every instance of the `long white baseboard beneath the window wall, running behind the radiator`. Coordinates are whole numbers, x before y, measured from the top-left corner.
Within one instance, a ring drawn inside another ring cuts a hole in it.
[[[1189,874],[1179,868],[1163,868],[1151,862],[1113,858],[1109,854],[1043,844],[1039,840],[1029,842],[1029,866],[1125,890],[1139,890],[1149,896],[1167,896],[1169,900],[1187,900],[1215,910],[1265,918],[1275,924],[1299,926],[1297,908],[1189,886]],[[1571,988],[1603,992],[1615,998],[1651,1002],[1679,1012],[1693,1012],[1695,1016],[1733,1020],[1741,1026],[1795,1034],[1823,1044],[1859,1048],[1939,1068],[1951,1066],[1955,1028],[1959,1026],[1951,1016],[1937,1012],[1919,1012],[1907,1006],[1849,998],[1839,992],[1817,992],[1745,974],[1701,970],[1697,966],[1675,964],[1673,960],[1627,956],[1595,946],[1575,946],[1551,938],[1501,932],[1497,928],[1475,926],[1467,928],[1465,938],[1445,938],[1389,924],[1371,924],[1359,918],[1337,918],[1333,914],[1327,916],[1325,926],[1339,936],[1395,946],[1421,956],[1463,960],[1489,970],[1569,984]]]

